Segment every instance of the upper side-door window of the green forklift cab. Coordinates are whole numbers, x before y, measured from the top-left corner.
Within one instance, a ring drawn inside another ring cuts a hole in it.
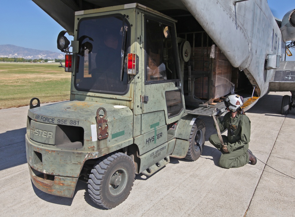
[[[176,61],[175,31],[150,17],[145,18],[146,84],[179,79]]]

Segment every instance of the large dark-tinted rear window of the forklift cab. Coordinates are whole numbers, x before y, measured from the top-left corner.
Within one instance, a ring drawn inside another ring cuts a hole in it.
[[[77,90],[118,95],[128,91],[124,59],[130,47],[129,29],[128,21],[121,14],[80,19],[75,72]],[[124,57],[121,56],[123,49]]]

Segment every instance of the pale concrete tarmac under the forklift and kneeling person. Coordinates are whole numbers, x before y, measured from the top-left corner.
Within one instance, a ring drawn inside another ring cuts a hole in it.
[[[295,109],[281,115],[289,92],[270,92],[247,111],[250,150],[276,170],[295,177]],[[28,106],[0,110],[1,216],[294,216],[295,180],[258,161],[241,168],[218,166],[220,152],[208,141],[216,133],[206,123],[199,160],[171,158],[149,178],[136,175],[129,197],[111,210],[92,203],[87,184],[78,182],[73,198],[53,196],[32,185],[24,135]]]

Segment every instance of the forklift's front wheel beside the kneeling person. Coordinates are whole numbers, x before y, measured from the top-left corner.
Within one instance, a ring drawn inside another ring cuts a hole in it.
[[[198,160],[201,156],[202,150],[205,145],[205,123],[201,119],[197,119],[191,128],[191,134],[189,136],[189,150],[185,159]]]

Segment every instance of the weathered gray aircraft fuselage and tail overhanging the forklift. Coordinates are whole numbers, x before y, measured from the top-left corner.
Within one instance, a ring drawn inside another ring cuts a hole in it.
[[[134,2],[32,1],[63,26],[70,35],[74,32],[76,11]],[[279,67],[277,62],[285,56],[286,42],[295,40],[295,9],[287,12],[282,21],[276,21],[266,0],[138,0],[137,2],[168,16],[171,14],[194,16],[232,66],[244,71],[258,97],[270,91],[269,82]],[[177,19],[177,16],[173,18]],[[247,109],[254,104],[255,102]]]

